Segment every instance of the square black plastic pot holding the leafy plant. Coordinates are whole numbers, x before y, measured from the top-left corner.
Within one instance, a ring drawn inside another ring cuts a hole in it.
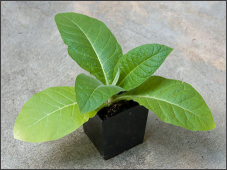
[[[83,125],[85,134],[102,157],[110,159],[143,143],[148,109],[136,105],[102,120],[97,113]]]

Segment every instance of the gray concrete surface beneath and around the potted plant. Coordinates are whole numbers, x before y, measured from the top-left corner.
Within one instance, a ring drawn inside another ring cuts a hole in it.
[[[144,143],[107,161],[81,127],[52,142],[14,139],[32,95],[86,73],[54,22],[68,11],[106,23],[124,53],[146,43],[173,47],[155,75],[192,84],[217,128],[191,132],[150,112]],[[226,168],[226,2],[1,2],[1,168]]]

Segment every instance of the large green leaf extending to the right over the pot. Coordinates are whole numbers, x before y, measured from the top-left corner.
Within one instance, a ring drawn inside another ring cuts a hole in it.
[[[119,95],[117,100],[134,100],[154,112],[162,121],[192,131],[216,127],[210,109],[189,84],[152,76],[139,87]]]

